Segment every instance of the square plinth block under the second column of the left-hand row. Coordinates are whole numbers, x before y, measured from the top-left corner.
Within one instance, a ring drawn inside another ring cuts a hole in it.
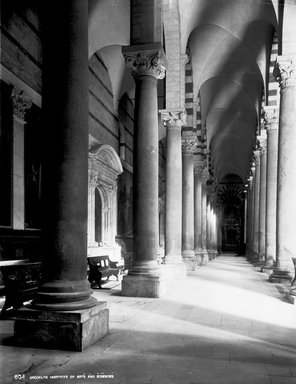
[[[122,296],[161,297],[165,293],[164,279],[160,275],[126,275],[122,279],[121,287]]]

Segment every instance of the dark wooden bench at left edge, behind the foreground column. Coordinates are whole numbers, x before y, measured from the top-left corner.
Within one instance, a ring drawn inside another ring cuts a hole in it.
[[[0,318],[5,318],[7,309],[21,308],[25,301],[34,299],[41,281],[41,262],[12,260],[0,262],[4,283],[5,303]]]

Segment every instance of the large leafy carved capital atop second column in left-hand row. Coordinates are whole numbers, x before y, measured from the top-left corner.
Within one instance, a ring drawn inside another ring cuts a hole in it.
[[[126,66],[135,79],[147,75],[156,79],[165,77],[167,60],[160,44],[146,45],[143,48],[131,46],[123,48],[122,53]]]

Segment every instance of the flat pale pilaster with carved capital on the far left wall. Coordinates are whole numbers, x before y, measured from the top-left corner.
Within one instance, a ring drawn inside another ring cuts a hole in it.
[[[13,104],[13,229],[25,229],[25,112],[32,101],[17,87],[11,92]]]

